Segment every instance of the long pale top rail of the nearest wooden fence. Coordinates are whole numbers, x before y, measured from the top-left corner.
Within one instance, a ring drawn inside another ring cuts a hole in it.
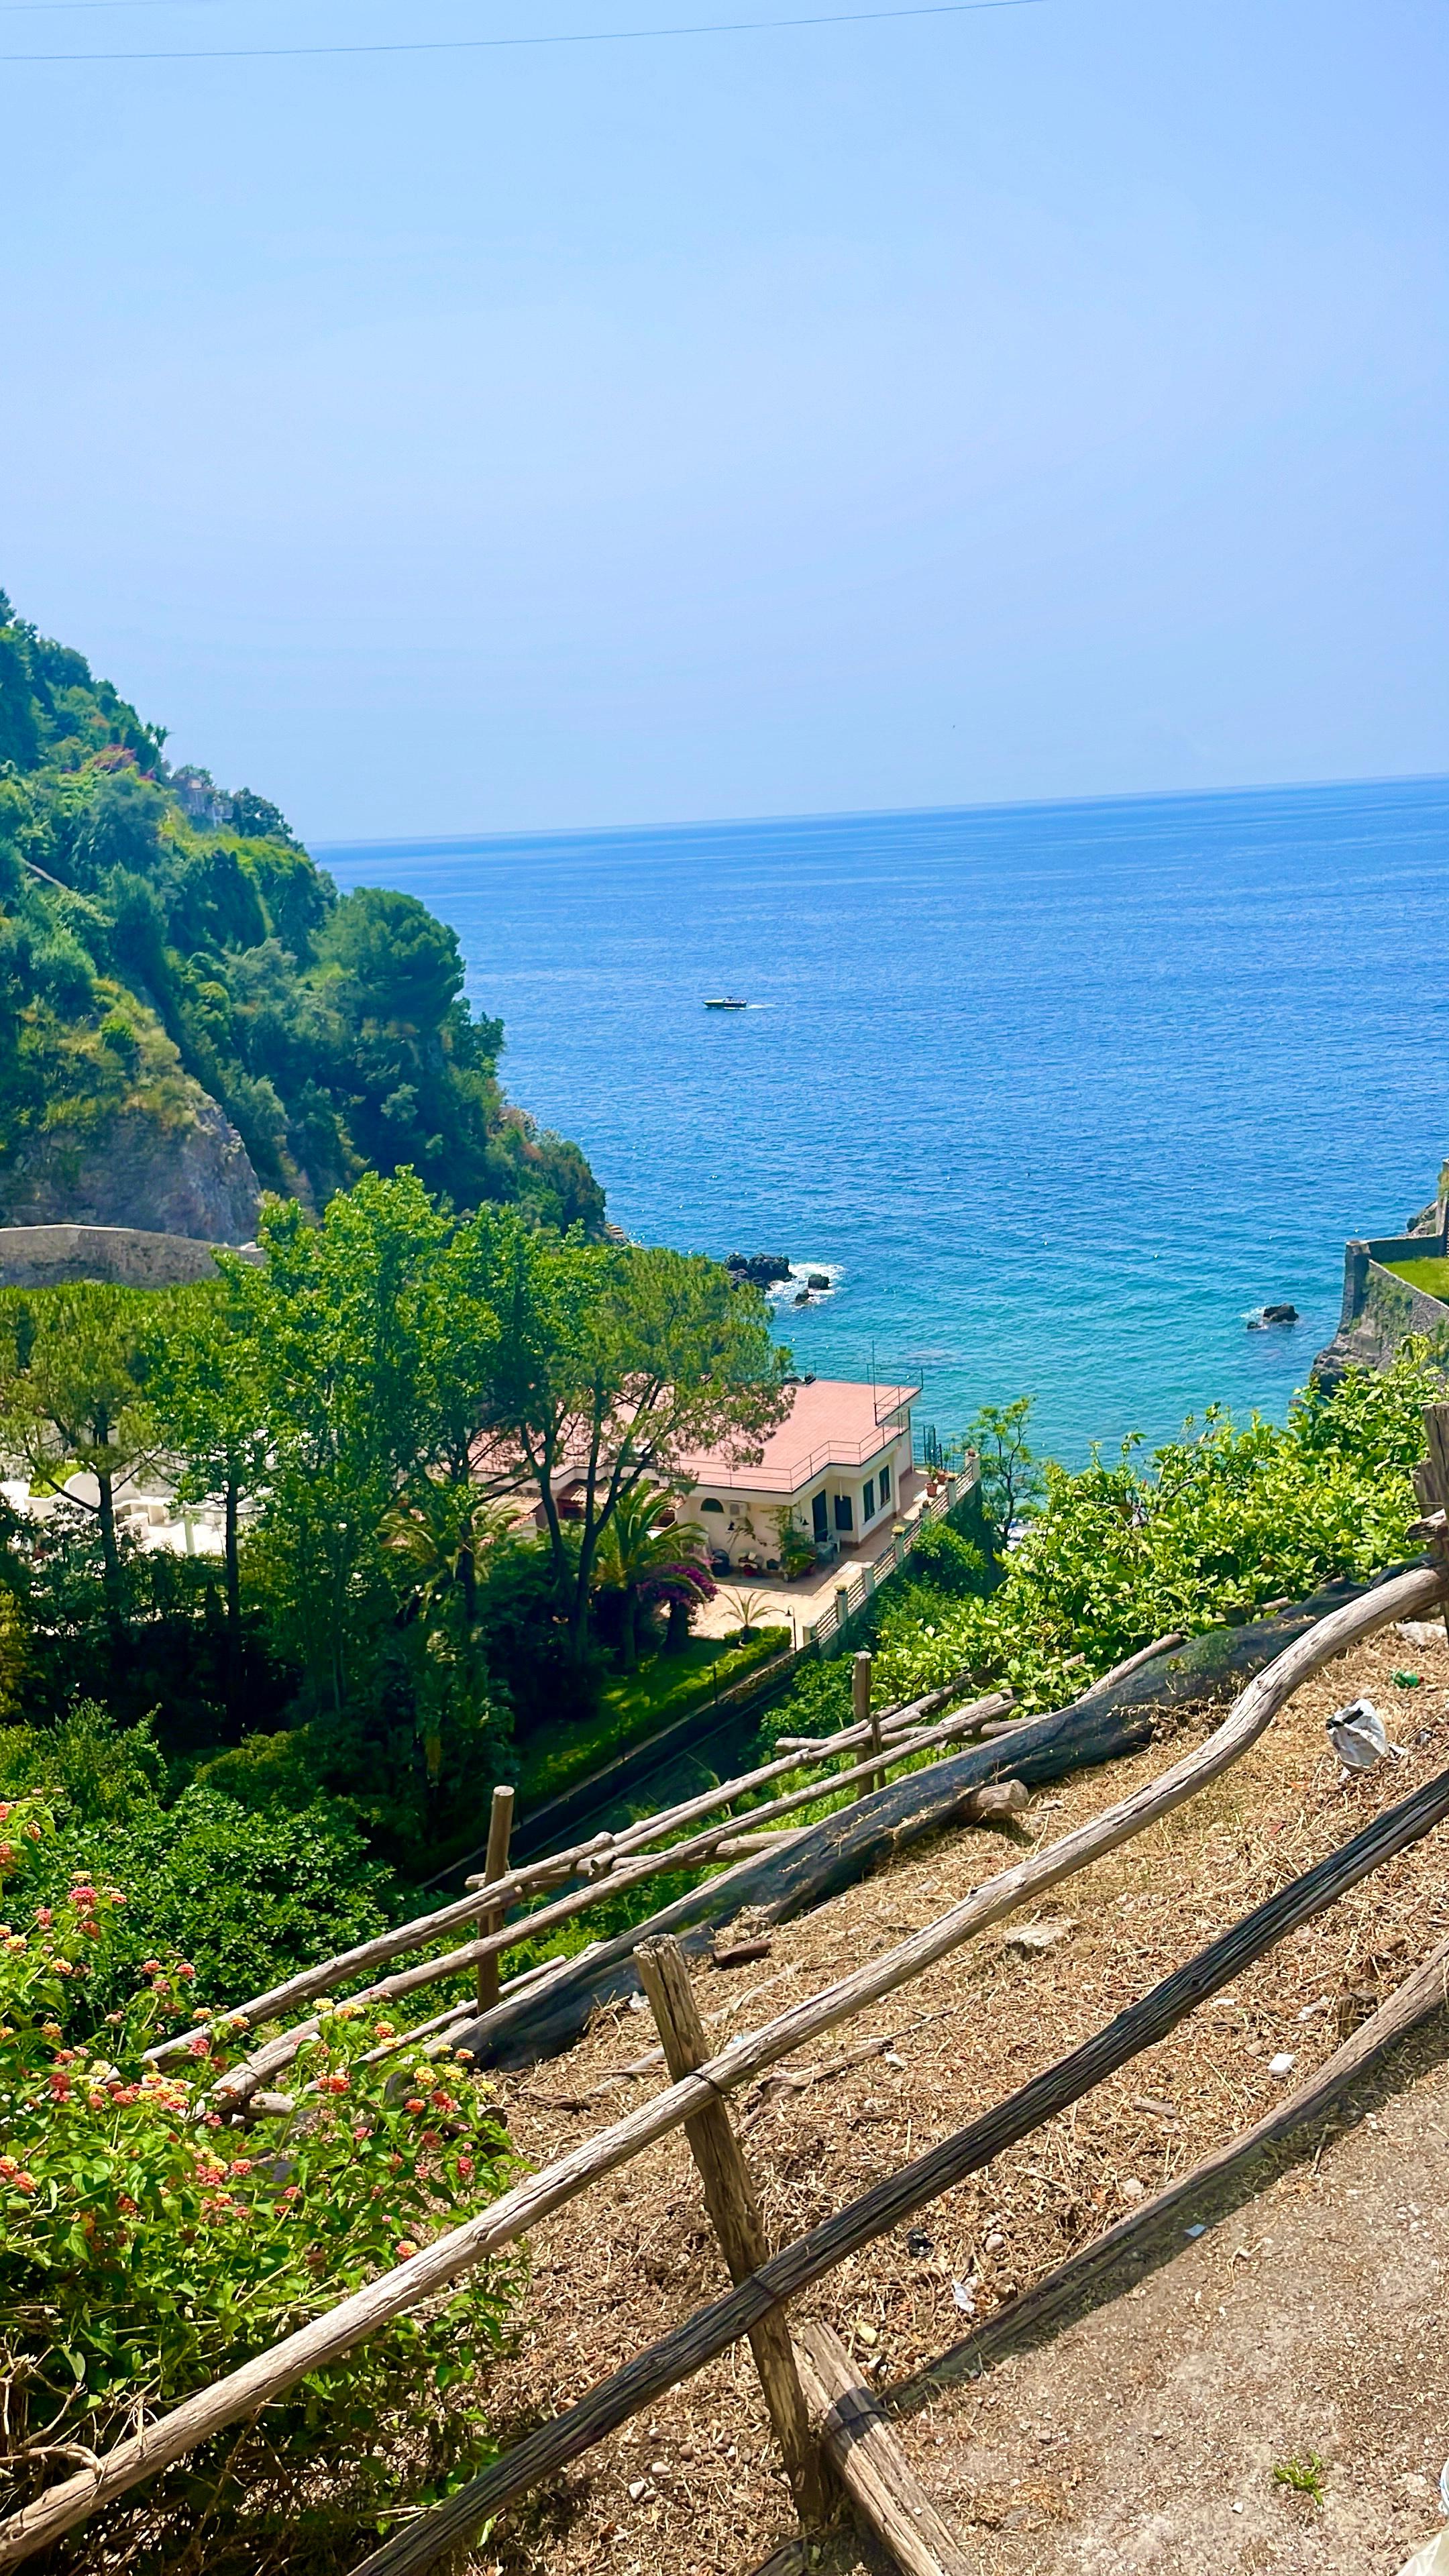
[[[969,1896],[941,1914],[933,1924],[926,1924],[920,1932],[897,1942],[895,1950],[884,1950],[882,1958],[869,1960],[851,1976],[838,1978],[835,1986],[825,1986],[822,1994],[792,2004],[786,2012],[776,2014],[773,2022],[763,2022],[761,2030],[743,2032],[696,2076],[688,2076],[683,2084],[670,2084],[670,2089],[655,2094],[652,2102],[642,2102],[624,2120],[598,2130],[567,2156],[559,2156],[554,2164],[513,2184],[487,2210],[480,2210],[474,2218],[467,2218],[462,2226],[433,2239],[431,2246],[423,2246],[420,2254],[413,2254],[397,2269],[384,2272],[361,2290],[353,2290],[325,2316],[299,2326],[268,2352],[258,2352],[250,2362],[227,2372],[227,2378],[214,2380],[211,2388],[196,2391],[196,2396],[183,2398],[165,2416],[142,2427],[142,2432],[116,2442],[95,2473],[64,2478],[46,2494],[36,2496],[34,2504],[0,2522],[0,2568],[18,2566],[34,2550],[57,2540],[62,2532],[70,2532],[77,2522],[85,2522],[88,2514],[98,2512],[98,2506],[108,2504],[113,2496],[121,2496],[142,2478],[155,2476],[157,2468],[168,2468],[173,2460],[186,2458],[188,2450],[196,2450],[199,2442],[211,2439],[211,2434],[222,2432],[227,2424],[240,2424],[260,2406],[284,2396],[297,2385],[297,2380],[307,2378],[309,2370],[327,2367],[327,2362],[338,2360],[343,2352],[366,2342],[369,2334],[389,2326],[392,2318],[405,2316],[410,2308],[436,2298],[472,2264],[487,2262],[490,2254],[516,2244],[552,2210],[562,2208],[567,2200],[578,2200],[578,2195],[603,2174],[616,2172],[621,2164],[629,2164],[637,2154],[652,2146],[655,2138],[665,2138],[673,2128],[681,2128],[683,2120],[694,2117],[696,2110],[704,2110],[717,2094],[753,2081],[766,2066],[794,2056],[797,2048],[807,2048],[810,2040],[820,2038],[825,2030],[835,2030],[856,2012],[910,1984],[910,1978],[920,1976],[923,1968],[936,1965],[938,1958],[946,1958],[975,1932],[1000,1922],[1021,1904],[1036,1899],[1044,1888],[1060,1886],[1062,1878],[1070,1878],[1088,1862],[1101,1860],[1104,1852],[1114,1852],[1122,1842],[1129,1842],[1147,1824],[1155,1824],[1158,1816],[1171,1814],[1238,1762],[1248,1747],[1258,1741],[1274,1713],[1292,1698],[1310,1672],[1318,1672],[1323,1664],[1333,1662],[1333,1656],[1346,1654],[1348,1646],[1374,1636],[1392,1620],[1421,1618],[1428,1607],[1434,1607],[1434,1602],[1441,1600],[1441,1595],[1444,1574],[1439,1566],[1415,1566],[1408,1574],[1374,1584],[1369,1592],[1351,1592],[1338,1610],[1328,1618],[1318,1618],[1310,1631],[1284,1646],[1274,1664],[1266,1672],[1258,1672],[1258,1677],[1248,1685],[1222,1726],[1217,1726],[1204,1744],[1194,1747],[1158,1780],[1145,1783],[1101,1816],[1093,1816],[1070,1834],[1062,1834],[1060,1842],[1031,1852],[1011,1870],[1000,1870],[985,1886],[972,1888]],[[1137,1680],[1140,1677],[1134,1677],[1127,1690],[1134,1690]],[[1042,1721],[1047,1728],[1052,1728],[1052,1718]],[[980,1757],[959,1759],[980,1762]],[[957,1765],[941,1767],[954,1770]],[[884,1790],[882,1795],[895,1798],[897,1790]],[[812,1837],[802,1839],[810,1842]],[[735,1870],[735,1888],[740,1891],[750,1886],[755,1870],[758,1862],[745,1862]],[[683,1919],[691,1901],[694,1899],[681,1899],[678,1906],[668,1909],[673,1917],[670,1929]],[[508,2007],[500,2007],[500,2012],[505,2009]],[[498,2017],[490,2014],[490,2020]],[[727,2342],[735,2342],[735,2336],[745,2331],[748,2321],[750,2318],[743,2318],[740,2326],[727,2334]],[[724,2349],[724,2344],[717,2349]],[[704,2357],[709,2360],[712,2354]],[[629,2414],[629,2409],[624,2409],[624,2414]],[[624,2416],[616,2421],[624,2421]]]

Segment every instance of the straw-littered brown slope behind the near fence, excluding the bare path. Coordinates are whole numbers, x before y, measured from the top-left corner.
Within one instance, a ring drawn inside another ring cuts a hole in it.
[[[1395,1672],[1418,1674],[1418,1687],[1395,1685]],[[1323,1721],[1359,1692],[1379,1703],[1405,1757],[1346,1785]],[[1036,1795],[1016,1842],[1057,1839],[1176,1759],[1186,1731],[1204,1734],[1212,1723],[1201,1713],[1147,1754]],[[1042,1911],[1060,1932],[1052,1947],[1021,1953],[1018,1924],[998,1927],[848,2025],[810,2063],[773,2069],[735,2099],[771,2241],[799,2236],[1013,2092],[1446,1762],[1441,1638],[1410,1643],[1387,1631],[1328,1667],[1225,1780],[1055,1893]],[[817,1991],[926,1924],[1006,1857],[1008,1837],[998,1832],[941,1837],[779,1929],[768,1960],[730,1976],[699,1968],[706,2022],[727,2035]],[[1271,2061],[1292,2056],[1292,2081],[1307,2076],[1446,1929],[1449,1842],[1439,1832],[1070,2115],[846,2264],[802,2303],[804,2313],[828,2316],[869,2378],[910,2375],[954,2344],[972,2313],[987,2316],[1018,2295],[1248,2128],[1287,2081],[1271,2074]],[[650,2043],[647,2012],[611,2009],[565,2058],[500,2079],[518,2151],[544,2161],[660,2084],[655,2069],[627,2071]],[[518,2352],[492,2391],[505,2439],[572,2403],[724,2285],[678,2136],[552,2218],[531,2254]],[[951,2491],[957,2512],[980,2530],[982,2571],[1047,2566],[1044,2540],[1036,2555],[1018,2548],[995,2555],[987,2532],[1008,2527],[1011,2540],[1024,2519],[1039,2532],[1067,2522],[1070,2488],[1049,2463],[1000,2494],[962,2486],[951,2447],[941,2450],[944,2424],[946,2416],[918,2429],[913,2442],[933,2491]],[[962,2421],[951,2442],[967,2439]],[[789,2496],[740,2349],[513,2509],[472,2568],[724,2576],[755,2566],[789,2530]],[[846,2543],[830,2555],[861,2563]]]

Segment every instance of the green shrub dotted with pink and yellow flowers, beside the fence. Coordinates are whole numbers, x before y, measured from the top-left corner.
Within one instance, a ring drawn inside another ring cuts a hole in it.
[[[36,1860],[39,1798],[0,1808],[0,1875]],[[186,1960],[160,1955],[106,2014],[93,2045],[90,1986],[129,1950],[124,1893],[75,1880],[23,1904],[0,1940],[0,2365],[15,2501],[54,2478],[57,2445],[106,2450],[142,2414],[222,2378],[348,2290],[407,2259],[456,2205],[508,2179],[482,2087],[449,2061],[366,2050],[392,2025],[356,2004],[322,2009],[291,2066],[297,2112],[255,2133],[224,2128],[206,2087],[237,2038],[211,2022],[155,2071],[144,2048],[193,2004]],[[392,2079],[405,2074],[402,2087]],[[477,2370],[518,2295],[516,2264],[480,2269],[425,2316],[371,2336],[88,2524],[52,2566],[175,2568],[206,2530],[204,2563],[335,2566],[379,2509],[438,2494],[480,2458]]]

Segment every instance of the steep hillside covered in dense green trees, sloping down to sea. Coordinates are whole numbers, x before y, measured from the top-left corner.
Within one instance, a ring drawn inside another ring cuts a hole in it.
[[[276,806],[162,742],[0,592],[0,1211],[67,1213],[119,1133],[165,1157],[211,1100],[307,1206],[410,1164],[454,1206],[598,1231],[578,1146],[500,1092],[454,933],[410,894],[338,896]]]

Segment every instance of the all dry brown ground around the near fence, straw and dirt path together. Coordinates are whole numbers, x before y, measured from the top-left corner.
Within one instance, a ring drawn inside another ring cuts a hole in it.
[[[1418,1687],[1395,1682],[1413,1664]],[[1323,1718],[1369,1690],[1408,1744],[1343,1790]],[[1191,1721],[1207,1731],[1212,1718]],[[1034,1798],[1021,1842],[1057,1839],[1160,1772],[1183,1736]],[[882,2174],[1013,2092],[1271,1888],[1449,1759],[1449,1649],[1387,1633],[1318,1674],[1263,1741],[1191,1806],[1057,1891],[1060,1940],[1006,1932],[748,2089],[735,2117],[771,2241],[799,2236]],[[1011,1857],[957,1832],[773,1935],[737,1976],[696,1971],[730,2035],[933,1919]],[[802,2303],[882,2388],[1011,2308],[1062,2257],[1302,2081],[1449,1929],[1449,1832],[1431,1834],[980,2177],[882,2239]],[[647,2012],[608,2009],[565,2058],[500,2079],[531,2161],[575,2146],[660,2081]],[[1449,2195],[1434,2187],[1449,2079],[1426,2066],[1266,2200],[1186,2244],[1168,2269],[910,2424],[926,2486],[962,2519],[982,2576],[1160,2568],[1336,2568],[1392,2576],[1434,2530],[1449,2455],[1449,2357],[1434,2303]],[[1356,2169],[1356,2159],[1379,2164]],[[1377,2177],[1377,2179],[1374,2179]],[[1351,2197],[1359,2195],[1359,2197]],[[1397,2215],[1397,2213],[1405,2215]],[[1263,2244],[1269,2239],[1269,2244]],[[1243,2251],[1238,2251],[1243,2246]],[[498,2432],[572,2403],[722,2287],[681,2138],[559,2210],[531,2244],[513,2357],[490,2383]],[[1222,2316],[1217,2313],[1222,2308]],[[1359,2336],[1359,2342],[1348,2342]],[[1423,2360],[1421,2360],[1423,2352]],[[1274,2460],[1320,2452],[1328,2501],[1274,2488]],[[1240,2504],[1243,2512],[1232,2512]],[[1222,2524],[1222,2530],[1220,2530]],[[495,2530],[474,2568],[503,2576],[743,2576],[792,2530],[748,2352],[714,2362]],[[1196,2548],[1196,2555],[1194,2555]],[[1258,2550],[1258,2555],[1253,2555]],[[1276,2555],[1274,2555],[1276,2550]],[[1297,2555],[1294,2555],[1297,2553]],[[866,2566],[833,2548],[830,2576]]]

